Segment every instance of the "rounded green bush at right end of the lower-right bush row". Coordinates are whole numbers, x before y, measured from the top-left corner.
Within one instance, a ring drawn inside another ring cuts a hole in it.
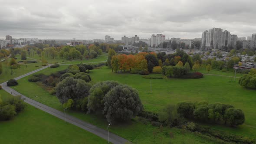
[[[245,121],[243,111],[237,108],[227,109],[224,117],[227,119],[231,126],[243,124]]]

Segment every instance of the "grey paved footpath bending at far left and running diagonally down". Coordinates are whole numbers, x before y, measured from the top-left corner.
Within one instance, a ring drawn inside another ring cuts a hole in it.
[[[40,68],[40,69],[36,69],[35,71],[33,72],[29,72],[25,75],[21,75],[17,78],[15,78],[16,80],[18,79],[21,79],[23,77],[26,77],[28,75],[31,75],[35,72],[39,72],[40,70],[43,70],[43,69],[46,69],[48,68],[50,65],[46,66],[46,67],[43,67],[43,68]],[[25,95],[22,95],[20,94],[19,92],[15,91],[13,88],[10,88],[7,86],[7,82],[3,82],[2,84],[2,88],[3,90],[7,91],[8,93],[12,94],[13,96],[16,96],[16,95],[21,95],[21,98],[24,99],[24,101],[30,105],[33,105],[34,107],[36,108],[39,108],[43,111],[46,111],[47,113],[51,114],[51,115],[54,115],[56,116],[57,118],[60,118],[62,120],[69,122],[70,124],[74,124],[86,131],[89,131],[95,135],[98,135],[99,137],[102,137],[104,138],[105,140],[108,141],[108,131],[105,131],[104,129],[102,128],[98,128],[92,124],[89,124],[89,123],[86,123],[85,121],[82,121],[78,118],[75,118],[71,115],[66,115],[66,118],[65,118],[65,114],[62,112],[62,111],[58,111],[54,108],[51,108],[47,105],[43,105],[42,103],[39,103],[31,98],[28,98],[26,97]],[[107,127],[107,126],[106,126]],[[122,138],[122,137],[119,137],[118,135],[115,135],[115,134],[112,134],[112,133],[109,133],[109,141],[113,144],[125,144],[125,142],[128,142],[128,140]]]

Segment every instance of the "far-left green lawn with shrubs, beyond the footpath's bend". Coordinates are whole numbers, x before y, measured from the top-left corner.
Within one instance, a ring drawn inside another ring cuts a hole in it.
[[[20,59],[17,56],[16,62],[18,62],[19,60]],[[9,63],[10,59],[8,59],[7,62]],[[3,72],[2,72],[2,74],[0,74],[0,83],[6,82],[9,79],[16,78],[20,75],[24,75],[28,72],[32,72],[36,69],[41,68],[40,66],[39,67],[35,66],[35,65],[39,65],[38,62],[37,63],[32,63],[32,64],[27,64],[27,66],[26,65],[20,65],[20,69],[13,69],[13,74],[11,75],[11,69],[10,69],[10,66],[7,65],[8,64],[7,62],[2,62]]]

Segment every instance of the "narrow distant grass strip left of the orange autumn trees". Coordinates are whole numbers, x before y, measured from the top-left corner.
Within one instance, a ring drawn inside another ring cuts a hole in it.
[[[96,59],[75,59],[69,62],[63,62],[62,64],[79,64],[79,63],[100,63],[105,62],[107,60],[108,56],[98,56]]]

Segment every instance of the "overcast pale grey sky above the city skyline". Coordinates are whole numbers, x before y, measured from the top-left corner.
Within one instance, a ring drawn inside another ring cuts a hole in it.
[[[201,37],[256,33],[256,0],[0,0],[0,38]]]

